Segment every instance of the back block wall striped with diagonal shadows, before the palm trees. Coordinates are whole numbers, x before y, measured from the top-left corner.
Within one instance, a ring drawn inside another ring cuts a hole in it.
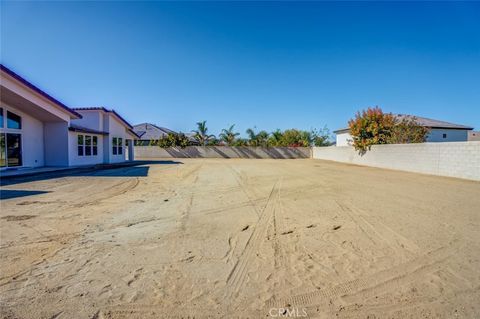
[[[310,147],[135,146],[135,159],[153,158],[310,158]]]

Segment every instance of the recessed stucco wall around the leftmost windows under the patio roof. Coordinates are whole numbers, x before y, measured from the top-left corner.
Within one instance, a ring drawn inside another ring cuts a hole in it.
[[[4,116],[7,111],[13,112],[22,118],[20,130],[0,128],[1,132],[16,133],[22,135],[22,162],[23,167],[44,166],[44,125],[40,120],[20,111],[18,108],[1,103]]]

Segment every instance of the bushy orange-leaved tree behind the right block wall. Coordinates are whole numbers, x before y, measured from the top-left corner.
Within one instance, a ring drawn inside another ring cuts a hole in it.
[[[375,144],[388,144],[391,140],[395,117],[383,113],[378,106],[357,112],[348,122],[353,146],[360,153],[365,153]]]

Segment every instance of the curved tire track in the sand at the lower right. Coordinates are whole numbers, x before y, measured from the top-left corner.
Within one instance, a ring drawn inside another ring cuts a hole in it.
[[[287,304],[300,305],[325,305],[332,299],[342,298],[354,301],[355,297],[366,298],[374,294],[382,294],[397,289],[405,283],[421,280],[426,274],[444,269],[445,261],[458,250],[457,242],[450,246],[440,247],[406,263],[399,264],[373,275],[347,281],[332,288],[320,289],[310,293],[299,294],[290,298],[272,300],[267,302],[267,307],[285,306]]]

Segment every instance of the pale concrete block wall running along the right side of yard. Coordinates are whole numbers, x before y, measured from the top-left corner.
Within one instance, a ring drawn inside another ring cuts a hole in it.
[[[375,145],[364,155],[353,147],[314,147],[314,159],[480,180],[480,142]]]

